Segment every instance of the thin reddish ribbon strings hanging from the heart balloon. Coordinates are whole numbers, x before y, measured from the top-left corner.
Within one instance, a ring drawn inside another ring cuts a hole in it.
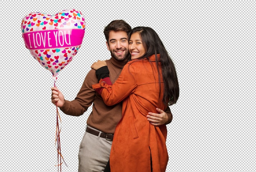
[[[55,85],[55,82],[54,81],[54,87],[56,87]],[[55,147],[57,149],[57,153],[58,153],[58,165],[55,165],[55,166],[58,166],[58,171],[60,169],[61,171],[61,165],[64,161],[63,159],[63,156],[61,154],[61,140],[60,140],[60,133],[61,133],[61,127],[59,126],[59,121],[60,121],[60,124],[61,124],[61,116],[60,114],[58,113],[58,107],[57,107],[57,103],[55,103],[56,105],[56,135],[55,135]],[[63,160],[63,162],[61,162],[61,160]],[[67,164],[65,163],[65,165],[67,166]]]

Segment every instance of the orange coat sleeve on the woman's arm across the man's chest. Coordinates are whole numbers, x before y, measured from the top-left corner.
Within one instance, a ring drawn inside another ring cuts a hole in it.
[[[92,87],[101,90],[101,97],[106,105],[115,105],[132,94],[137,87],[135,70],[132,65],[126,64],[113,85],[103,81]]]

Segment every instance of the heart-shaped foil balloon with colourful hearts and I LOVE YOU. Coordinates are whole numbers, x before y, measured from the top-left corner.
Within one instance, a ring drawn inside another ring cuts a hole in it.
[[[55,15],[29,13],[22,19],[21,30],[30,54],[56,81],[58,72],[72,61],[82,44],[85,18],[75,9]]]

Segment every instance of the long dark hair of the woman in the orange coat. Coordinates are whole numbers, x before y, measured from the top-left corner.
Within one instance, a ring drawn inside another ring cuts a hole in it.
[[[141,26],[135,27],[129,33],[128,38],[130,39],[130,36],[136,32],[140,34],[142,44],[146,50],[146,53],[143,56],[139,57],[138,59],[148,58],[153,54],[155,54],[155,61],[157,64],[159,85],[160,85],[160,91],[161,91],[161,84],[160,84],[161,77],[160,77],[160,72],[158,67],[159,61],[157,59],[157,54],[160,54],[160,64],[162,68],[162,77],[164,80],[163,102],[165,103],[165,105],[175,104],[180,94],[179,83],[178,83],[174,63],[169,57],[168,52],[164,47],[164,44],[162,43],[161,39],[159,38],[155,30],[153,30],[150,27],[141,27]]]

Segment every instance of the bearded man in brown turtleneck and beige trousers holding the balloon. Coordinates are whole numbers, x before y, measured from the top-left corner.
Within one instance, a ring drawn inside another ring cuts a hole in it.
[[[124,20],[114,20],[104,29],[106,45],[111,58],[106,61],[112,83],[118,78],[123,66],[129,59],[128,33],[131,27]],[[72,101],[64,99],[56,87],[52,87],[52,103],[60,107],[67,115],[79,116],[92,105],[92,112],[87,120],[86,132],[79,149],[79,172],[100,172],[106,167],[110,156],[115,127],[121,119],[122,102],[114,106],[104,104],[101,96],[92,89],[98,83],[95,70],[90,70],[83,85]],[[167,114],[157,109],[160,114],[149,113],[148,121],[153,125],[168,124],[172,120],[169,108]]]

